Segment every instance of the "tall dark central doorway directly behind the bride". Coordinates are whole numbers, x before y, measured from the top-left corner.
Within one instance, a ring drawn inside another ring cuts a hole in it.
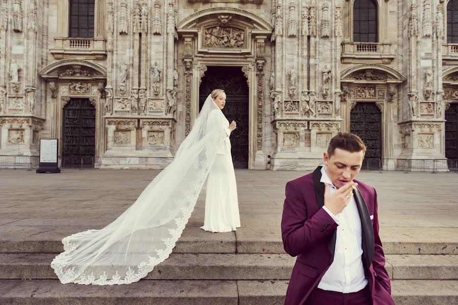
[[[210,67],[202,78],[199,89],[199,110],[214,89],[223,89],[227,100],[223,113],[229,122],[235,120],[237,129],[231,134],[231,154],[234,168],[248,168],[249,91],[241,67]]]

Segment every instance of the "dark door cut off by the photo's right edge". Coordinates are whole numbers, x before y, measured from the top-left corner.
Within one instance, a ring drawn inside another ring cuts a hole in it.
[[[450,104],[445,111],[445,158],[450,169],[458,162],[458,104]]]

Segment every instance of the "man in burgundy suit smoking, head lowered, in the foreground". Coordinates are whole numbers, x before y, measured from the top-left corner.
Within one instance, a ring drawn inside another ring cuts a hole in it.
[[[365,151],[357,135],[339,133],[324,154],[324,167],[286,184],[283,246],[298,257],[286,305],[394,304],[377,194],[354,180]]]

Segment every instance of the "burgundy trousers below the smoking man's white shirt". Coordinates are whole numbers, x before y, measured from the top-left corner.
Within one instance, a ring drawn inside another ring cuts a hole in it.
[[[357,292],[342,293],[315,288],[306,305],[371,305],[369,285]]]

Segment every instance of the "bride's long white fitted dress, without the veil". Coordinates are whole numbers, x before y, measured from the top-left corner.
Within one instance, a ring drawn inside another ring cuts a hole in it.
[[[230,232],[240,227],[238,212],[237,185],[229,140],[229,121],[221,111],[214,111],[209,119],[212,125],[220,126],[227,134],[221,143],[217,156],[208,174],[205,198],[205,220],[201,227],[210,232]]]

